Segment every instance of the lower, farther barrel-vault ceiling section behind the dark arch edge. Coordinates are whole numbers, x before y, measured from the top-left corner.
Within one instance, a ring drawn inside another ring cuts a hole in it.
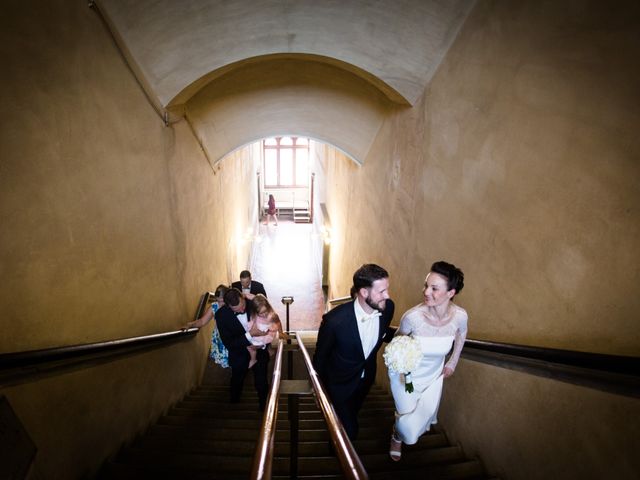
[[[278,59],[216,79],[185,112],[213,162],[260,138],[291,134],[330,143],[362,163],[394,108],[400,107],[345,70]]]

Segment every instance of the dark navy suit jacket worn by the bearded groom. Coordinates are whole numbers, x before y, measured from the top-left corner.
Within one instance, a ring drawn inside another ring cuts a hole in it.
[[[353,302],[342,304],[322,317],[318,330],[313,366],[333,402],[343,402],[355,391],[364,370],[364,381],[373,384],[376,378],[376,358],[382,342],[393,338],[389,327],[395,305],[387,300],[378,330],[378,341],[368,358],[364,358],[362,341],[356,323]]]

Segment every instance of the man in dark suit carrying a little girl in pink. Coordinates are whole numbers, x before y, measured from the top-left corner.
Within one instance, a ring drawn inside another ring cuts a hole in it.
[[[249,345],[268,345],[273,335],[261,332],[251,320],[251,302],[247,302],[235,288],[224,294],[224,305],[216,312],[216,325],[222,343],[229,350],[229,366],[231,367],[231,403],[240,401],[244,379],[249,371]],[[269,352],[266,348],[257,350],[257,363],[251,368],[254,384],[258,392],[260,410],[264,410],[267,402],[269,381],[267,366]]]

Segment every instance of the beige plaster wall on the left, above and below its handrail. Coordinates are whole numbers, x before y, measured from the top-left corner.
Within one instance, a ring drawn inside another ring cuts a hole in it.
[[[248,261],[250,245],[229,239],[255,222],[256,192],[237,187],[255,155],[214,174],[186,122],[164,126],[86,2],[11,2],[1,18],[0,353],[179,328]],[[38,448],[34,473],[95,469],[199,381],[210,328],[1,389]]]

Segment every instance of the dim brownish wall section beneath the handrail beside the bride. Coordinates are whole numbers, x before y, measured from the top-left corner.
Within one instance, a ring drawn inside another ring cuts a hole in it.
[[[445,385],[438,420],[449,439],[499,478],[638,476],[637,398],[466,359]]]

